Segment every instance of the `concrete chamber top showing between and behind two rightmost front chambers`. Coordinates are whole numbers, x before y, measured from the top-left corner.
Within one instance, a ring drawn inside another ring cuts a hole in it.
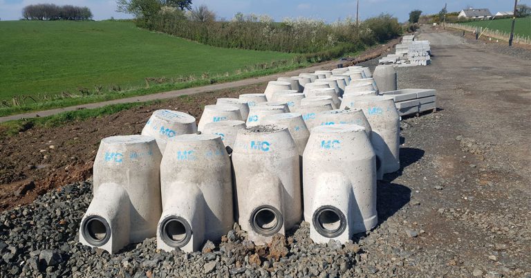
[[[291,137],[295,141],[295,145],[297,145],[299,156],[302,157],[308,138],[310,138],[310,131],[300,113],[268,115],[265,116],[262,124],[276,124],[281,127],[288,127],[288,131],[290,131]]]

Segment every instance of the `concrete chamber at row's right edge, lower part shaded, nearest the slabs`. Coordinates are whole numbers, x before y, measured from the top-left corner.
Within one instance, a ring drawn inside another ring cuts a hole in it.
[[[373,129],[373,147],[384,174],[400,169],[400,117],[392,97],[360,96],[352,102],[362,109]]]

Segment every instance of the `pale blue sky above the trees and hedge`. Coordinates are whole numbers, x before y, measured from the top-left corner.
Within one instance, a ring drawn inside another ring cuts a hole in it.
[[[519,3],[531,5],[531,0],[519,0]],[[346,0],[193,0],[193,5],[207,5],[216,12],[219,18],[232,19],[236,12],[244,14],[270,15],[275,21],[291,17],[311,17],[324,19],[327,22],[355,17],[356,1]],[[94,19],[125,19],[131,15],[116,12],[115,0],[0,0],[0,19],[17,20],[21,18],[24,6],[35,3],[55,3],[87,6],[91,9]],[[423,14],[439,12],[445,3],[448,11],[460,11],[467,6],[489,8],[494,14],[499,11],[513,9],[512,0],[360,0],[360,19],[366,19],[382,12],[398,17],[399,21],[407,21],[411,10],[422,10]]]

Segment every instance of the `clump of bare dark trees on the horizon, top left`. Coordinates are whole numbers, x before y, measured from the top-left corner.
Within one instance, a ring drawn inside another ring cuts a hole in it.
[[[88,20],[93,15],[87,7],[44,3],[24,7],[22,17],[27,20]]]

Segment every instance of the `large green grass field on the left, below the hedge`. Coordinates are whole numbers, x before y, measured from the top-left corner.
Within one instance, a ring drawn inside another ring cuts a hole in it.
[[[0,21],[0,100],[79,93],[79,87],[139,88],[146,77],[232,74],[245,66],[292,57],[205,46],[141,30],[131,22]]]

